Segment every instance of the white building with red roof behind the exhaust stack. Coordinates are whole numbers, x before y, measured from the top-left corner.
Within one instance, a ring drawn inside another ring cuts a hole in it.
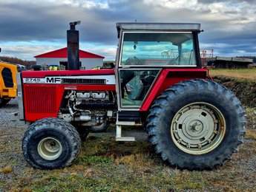
[[[67,47],[36,55],[34,58],[36,58],[36,65],[62,65],[65,66],[66,69],[68,66]],[[82,69],[92,69],[96,66],[102,66],[104,58],[105,57],[102,57],[101,55],[96,55],[79,49],[79,61]]]

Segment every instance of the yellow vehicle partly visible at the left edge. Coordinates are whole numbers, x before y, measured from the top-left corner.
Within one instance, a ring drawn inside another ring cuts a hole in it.
[[[17,72],[18,66],[0,61],[0,106],[17,96]]]

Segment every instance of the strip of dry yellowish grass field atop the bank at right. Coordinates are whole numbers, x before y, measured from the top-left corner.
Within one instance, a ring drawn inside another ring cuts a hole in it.
[[[209,74],[256,81],[256,69],[210,69]]]

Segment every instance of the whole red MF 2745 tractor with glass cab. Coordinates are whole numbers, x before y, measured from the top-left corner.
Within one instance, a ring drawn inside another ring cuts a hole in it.
[[[116,123],[144,126],[163,160],[177,168],[212,169],[243,143],[240,100],[200,64],[200,24],[116,24],[115,69],[79,70],[76,23],[70,23],[68,70],[22,72],[19,120],[34,168],[71,165],[88,130]],[[68,33],[69,34],[69,33]]]

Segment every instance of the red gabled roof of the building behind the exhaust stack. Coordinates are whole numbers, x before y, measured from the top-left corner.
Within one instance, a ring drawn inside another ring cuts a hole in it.
[[[41,55],[34,56],[34,58],[68,58],[67,47],[64,47],[62,49],[57,49],[51,52],[45,52]],[[79,58],[105,58],[105,57],[79,49]]]

